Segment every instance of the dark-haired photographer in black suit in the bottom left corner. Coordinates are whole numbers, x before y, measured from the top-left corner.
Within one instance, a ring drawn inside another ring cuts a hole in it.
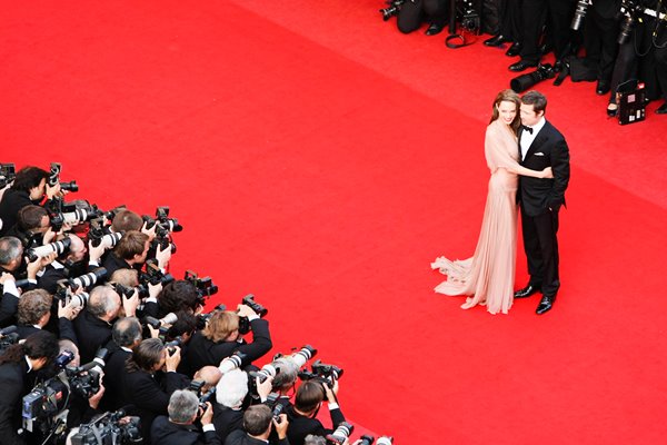
[[[0,356],[0,437],[3,444],[27,443],[21,428],[21,399],[36,383],[36,372],[58,356],[58,340],[47,332],[30,335],[24,343],[10,346]]]

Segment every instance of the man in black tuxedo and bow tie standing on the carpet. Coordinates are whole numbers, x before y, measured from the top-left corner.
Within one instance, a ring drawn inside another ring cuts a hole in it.
[[[515,293],[515,298],[529,297],[541,290],[538,315],[551,309],[560,287],[556,234],[558,210],[565,205],[570,170],[567,142],[545,119],[546,108],[547,98],[538,91],[528,91],[521,98],[519,162],[531,170],[551,167],[554,174],[552,179],[520,176],[517,192],[530,281]]]

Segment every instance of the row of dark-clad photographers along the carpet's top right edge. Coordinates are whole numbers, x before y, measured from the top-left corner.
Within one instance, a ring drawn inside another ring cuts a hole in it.
[[[643,101],[664,100],[656,109],[667,115],[667,1],[665,0],[387,0],[385,20],[397,16],[401,32],[427,21],[434,36],[452,19],[459,28],[494,34],[488,47],[509,44],[506,55],[519,57],[509,70],[528,75],[510,82],[522,92],[537,82],[560,85],[594,81],[597,95],[609,95],[607,113],[619,113],[617,93],[639,91]],[[451,48],[467,43],[450,44]],[[461,39],[464,39],[461,37]],[[583,49],[583,50],[581,50]],[[541,63],[552,52],[555,63]],[[641,117],[635,116],[638,120]],[[629,121],[634,121],[630,119]],[[624,120],[621,119],[621,123]]]

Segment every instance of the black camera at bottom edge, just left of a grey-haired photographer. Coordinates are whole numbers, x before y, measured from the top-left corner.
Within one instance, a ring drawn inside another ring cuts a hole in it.
[[[83,424],[71,437],[72,445],[141,444],[139,417],[126,417],[125,412],[106,413],[89,424]]]

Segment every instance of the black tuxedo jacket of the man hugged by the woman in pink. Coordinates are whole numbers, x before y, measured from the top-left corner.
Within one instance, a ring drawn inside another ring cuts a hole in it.
[[[519,141],[522,131],[519,131]],[[519,142],[519,159],[520,158]],[[544,214],[550,207],[558,210],[565,205],[565,189],[569,182],[569,149],[565,138],[548,120],[537,134],[535,140],[528,148],[521,166],[531,170],[544,170],[551,167],[552,179],[531,178],[519,176],[519,190],[517,200],[528,216]]]

